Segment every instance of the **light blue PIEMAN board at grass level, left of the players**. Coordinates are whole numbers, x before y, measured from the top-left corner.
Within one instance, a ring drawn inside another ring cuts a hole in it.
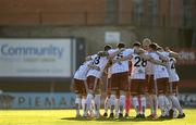
[[[0,109],[73,109],[75,95],[71,92],[4,92]]]

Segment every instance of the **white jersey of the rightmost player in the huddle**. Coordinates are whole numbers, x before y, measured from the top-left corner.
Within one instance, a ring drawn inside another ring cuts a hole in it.
[[[169,73],[169,80],[172,82],[179,82],[179,75],[175,71],[175,59],[170,58],[170,61],[168,63],[168,73]]]

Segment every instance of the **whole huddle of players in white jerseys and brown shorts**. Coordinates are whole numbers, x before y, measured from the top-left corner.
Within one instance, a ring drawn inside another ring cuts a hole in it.
[[[88,55],[74,75],[76,117],[81,117],[81,108],[83,117],[101,116],[101,83],[107,91],[105,117],[127,117],[132,102],[136,118],[145,118],[147,100],[148,117],[158,117],[158,108],[161,110],[159,118],[185,117],[176,97],[180,79],[174,64],[177,58],[176,52],[148,38],[142,43],[134,42],[132,48],[123,42],[117,48],[105,46],[103,51]],[[107,77],[106,82],[102,76]]]

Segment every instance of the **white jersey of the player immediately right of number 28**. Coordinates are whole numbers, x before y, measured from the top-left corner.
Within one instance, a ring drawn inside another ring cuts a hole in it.
[[[163,54],[163,53],[161,53]],[[156,52],[149,52],[149,55],[154,60],[161,61],[159,55]],[[166,66],[159,65],[159,64],[154,64],[152,63],[152,70],[154,70],[154,79],[158,78],[169,78],[168,70]]]

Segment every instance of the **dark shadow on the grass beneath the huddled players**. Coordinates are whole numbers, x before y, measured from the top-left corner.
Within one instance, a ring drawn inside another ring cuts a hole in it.
[[[84,117],[62,117],[61,120],[66,120],[66,121],[97,121],[97,122],[162,122],[162,121],[171,121],[171,120],[162,120],[162,118],[135,118],[133,116],[130,116],[127,118],[123,117],[123,118],[109,118],[109,117],[100,117],[100,118],[84,118]]]

